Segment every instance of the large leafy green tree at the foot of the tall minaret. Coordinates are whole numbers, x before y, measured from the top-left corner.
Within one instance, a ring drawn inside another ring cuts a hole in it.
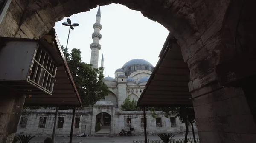
[[[64,46],[61,48],[65,50]],[[81,51],[76,48],[70,54],[67,52],[66,60],[84,107],[93,106],[108,95],[108,87],[103,83],[104,67],[93,68],[92,64],[82,62]]]

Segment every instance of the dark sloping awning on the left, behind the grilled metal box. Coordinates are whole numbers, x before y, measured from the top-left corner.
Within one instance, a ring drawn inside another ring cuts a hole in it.
[[[53,87],[52,95],[45,93],[32,95],[31,97],[26,96],[25,105],[81,107],[81,99],[64,58],[55,30],[51,30],[40,40],[47,41],[48,44],[58,52],[58,55],[55,56],[61,57],[62,64],[57,67],[56,82]]]

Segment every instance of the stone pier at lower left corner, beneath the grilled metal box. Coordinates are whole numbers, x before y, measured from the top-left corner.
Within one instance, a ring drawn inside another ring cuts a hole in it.
[[[0,143],[12,143],[26,96],[0,89]]]

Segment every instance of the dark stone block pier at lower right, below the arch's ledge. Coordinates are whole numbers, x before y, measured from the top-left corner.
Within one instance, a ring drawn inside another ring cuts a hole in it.
[[[244,93],[241,87],[218,83],[192,91],[201,143],[256,143],[255,113]]]

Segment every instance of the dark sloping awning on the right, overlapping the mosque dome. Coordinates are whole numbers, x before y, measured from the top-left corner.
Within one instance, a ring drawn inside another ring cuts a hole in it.
[[[143,90],[140,107],[193,106],[189,93],[189,69],[183,61],[180,46],[169,34],[160,59]]]

